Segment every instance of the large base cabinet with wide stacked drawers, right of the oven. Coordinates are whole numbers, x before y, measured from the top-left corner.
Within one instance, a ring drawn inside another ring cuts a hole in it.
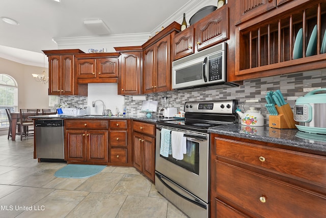
[[[326,157],[218,134],[211,141],[211,217],[326,216]]]

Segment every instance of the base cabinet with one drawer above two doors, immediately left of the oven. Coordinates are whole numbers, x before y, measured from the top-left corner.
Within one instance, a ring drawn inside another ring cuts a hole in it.
[[[133,166],[154,182],[155,125],[133,121]]]

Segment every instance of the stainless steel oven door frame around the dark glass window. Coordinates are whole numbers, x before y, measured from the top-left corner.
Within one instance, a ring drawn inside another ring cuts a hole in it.
[[[205,202],[209,201],[208,198],[208,153],[209,153],[209,144],[208,144],[208,134],[199,133],[188,130],[181,130],[172,127],[165,127],[161,125],[156,125],[156,159],[155,159],[155,170],[162,175],[165,175],[172,179],[178,185],[184,187],[193,195],[202,199]],[[186,137],[189,140],[198,142],[199,145],[199,175],[194,174],[193,172],[187,171],[184,168],[161,158],[159,154],[160,150],[160,129],[166,128],[169,130],[184,132]],[[186,178],[186,179],[185,179]],[[160,190],[158,190],[160,191]],[[173,200],[171,200],[173,201]]]

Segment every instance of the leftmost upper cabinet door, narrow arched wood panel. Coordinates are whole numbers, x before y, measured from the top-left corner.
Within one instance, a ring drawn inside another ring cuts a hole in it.
[[[49,56],[49,95],[61,94],[61,55]]]

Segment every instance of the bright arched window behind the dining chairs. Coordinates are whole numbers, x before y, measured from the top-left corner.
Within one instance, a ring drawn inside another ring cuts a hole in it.
[[[9,127],[6,108],[12,112],[18,109],[18,86],[14,78],[0,74],[0,128]]]

